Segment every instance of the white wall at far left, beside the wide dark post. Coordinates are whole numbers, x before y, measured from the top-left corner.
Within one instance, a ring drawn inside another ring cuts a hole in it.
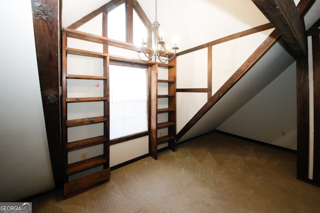
[[[51,190],[54,183],[40,96],[31,3],[5,1],[1,9],[0,201],[4,202]]]

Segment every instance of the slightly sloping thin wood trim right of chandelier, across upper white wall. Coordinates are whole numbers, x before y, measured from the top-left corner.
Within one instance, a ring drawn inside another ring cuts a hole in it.
[[[253,33],[256,33],[256,32],[260,32],[260,31],[264,31],[264,30],[271,29],[271,28],[273,28],[272,24],[271,23],[266,23],[266,24],[263,24],[263,25],[260,25],[260,26],[257,26],[257,27],[253,27],[251,29],[247,29],[247,30],[244,30],[244,31],[241,31],[241,32],[234,33],[232,35],[225,36],[223,38],[219,38],[219,39],[214,40],[214,41],[210,41],[208,43],[205,43],[205,44],[202,44],[202,45],[190,48],[190,49],[186,49],[184,51],[176,53],[176,56],[183,55],[183,54],[186,54],[186,53],[190,53],[190,52],[193,52],[193,51],[196,51],[196,50],[200,50],[200,49],[203,49],[203,48],[206,48],[206,47],[209,47],[209,46],[213,46],[213,45],[216,45],[216,44],[219,44],[219,43],[223,43],[223,42],[226,42],[226,41],[229,41],[229,40],[233,40],[233,39],[236,39],[236,38],[240,38],[240,37],[243,37],[243,36],[246,36],[246,35],[250,35],[250,34],[253,34]]]

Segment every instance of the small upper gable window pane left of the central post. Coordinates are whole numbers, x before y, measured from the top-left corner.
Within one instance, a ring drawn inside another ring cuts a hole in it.
[[[122,3],[108,13],[107,37],[125,41],[125,28],[125,5]]]

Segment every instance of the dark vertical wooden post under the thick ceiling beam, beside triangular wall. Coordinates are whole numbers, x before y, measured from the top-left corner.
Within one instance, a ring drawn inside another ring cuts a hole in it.
[[[297,88],[297,166],[300,180],[308,179],[309,165],[309,80],[307,57],[296,60]]]

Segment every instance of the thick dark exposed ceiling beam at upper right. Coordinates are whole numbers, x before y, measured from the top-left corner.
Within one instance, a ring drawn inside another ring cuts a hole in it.
[[[293,0],[252,0],[279,31],[296,56],[305,56],[306,33]]]

